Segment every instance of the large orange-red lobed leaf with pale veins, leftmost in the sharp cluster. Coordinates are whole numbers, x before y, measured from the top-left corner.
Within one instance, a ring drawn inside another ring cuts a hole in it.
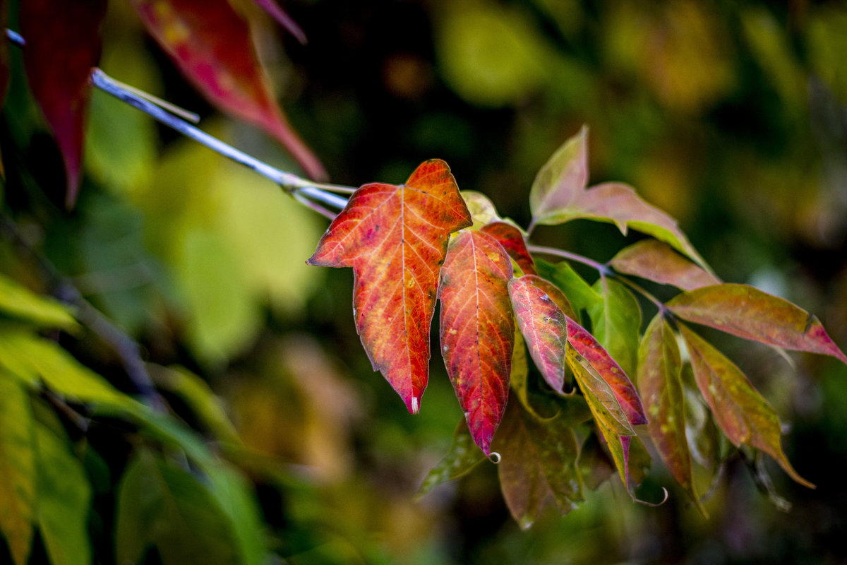
[[[470,224],[450,168],[432,159],[404,185],[361,186],[307,261],[352,267],[358,334],[374,370],[411,413],[429,376],[429,326],[447,241]]]

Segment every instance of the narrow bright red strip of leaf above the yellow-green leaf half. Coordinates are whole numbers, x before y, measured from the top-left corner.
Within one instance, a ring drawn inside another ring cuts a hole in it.
[[[603,380],[612,387],[612,391],[620,402],[623,412],[626,413],[629,424],[646,424],[647,418],[644,408],[641,407],[641,399],[635,387],[629,380],[623,369],[615,363],[605,349],[573,319],[567,319],[567,341],[573,349],[585,358]]]

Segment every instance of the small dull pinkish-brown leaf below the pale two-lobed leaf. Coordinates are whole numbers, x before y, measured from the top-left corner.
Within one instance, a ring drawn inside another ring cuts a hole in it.
[[[684,258],[664,241],[653,239],[623,248],[609,264],[619,273],[674,285],[684,291],[721,284],[714,274]]]

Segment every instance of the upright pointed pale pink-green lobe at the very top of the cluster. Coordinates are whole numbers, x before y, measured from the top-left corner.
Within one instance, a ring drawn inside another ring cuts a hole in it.
[[[559,224],[556,218],[573,205],[588,185],[588,127],[556,149],[535,175],[529,190],[533,224]]]

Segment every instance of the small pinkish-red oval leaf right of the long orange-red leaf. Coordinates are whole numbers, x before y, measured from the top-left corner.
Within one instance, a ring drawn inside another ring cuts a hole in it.
[[[535,366],[554,391],[562,392],[567,316],[559,304],[565,305],[567,298],[552,283],[534,274],[510,280],[509,296]]]

